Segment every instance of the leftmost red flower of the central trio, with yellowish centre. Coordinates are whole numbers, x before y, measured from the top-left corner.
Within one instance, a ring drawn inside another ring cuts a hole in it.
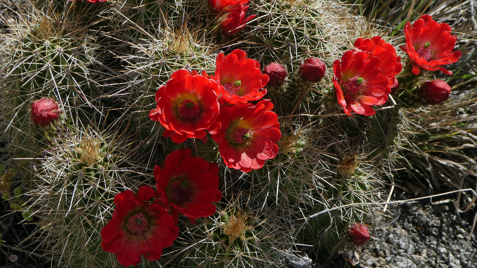
[[[217,133],[220,123],[218,94],[223,87],[197,71],[177,70],[165,85],[156,92],[157,109],[151,110],[149,118],[159,121],[166,130],[164,137],[175,143],[187,138],[203,139],[206,130]]]

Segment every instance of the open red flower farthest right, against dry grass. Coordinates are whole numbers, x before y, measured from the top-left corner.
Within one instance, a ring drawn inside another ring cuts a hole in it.
[[[451,31],[449,24],[437,23],[429,15],[422,15],[412,26],[411,22],[406,23],[406,47],[401,46],[401,49],[407,53],[415,75],[421,68],[452,74],[440,66],[456,62],[462,54],[459,50],[452,52],[457,36],[451,35]]]

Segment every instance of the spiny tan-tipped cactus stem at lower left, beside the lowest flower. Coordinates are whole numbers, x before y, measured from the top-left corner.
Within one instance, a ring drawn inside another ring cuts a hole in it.
[[[83,137],[78,140],[77,135]],[[115,194],[129,180],[145,179],[132,175],[124,144],[103,132],[82,134],[71,126],[50,139],[56,146],[45,152],[28,182],[34,198],[27,209],[48,231],[42,239],[54,258],[71,267],[119,267],[116,257],[101,247],[101,229],[111,219]]]

